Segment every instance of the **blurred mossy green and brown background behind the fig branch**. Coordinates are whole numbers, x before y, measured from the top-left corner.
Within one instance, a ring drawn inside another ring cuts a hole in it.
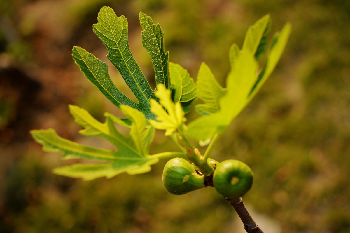
[[[274,73],[211,157],[251,166],[244,200],[265,232],[350,232],[350,1],[341,0],[0,0],[0,232],[244,232],[213,188],[168,193],[166,161],[146,174],[89,182],[51,173],[70,161],[42,152],[30,129],[108,147],[79,136],[68,104],[101,121],[105,111],[120,115],[71,57],[76,45],[107,62],[92,32],[103,5],[127,17],[131,50],[153,86],[140,11],[162,26],[171,62],[196,79],[204,61],[222,85],[229,47],[241,47],[249,25],[270,13],[271,38],[292,23]],[[110,67],[110,75],[130,96],[118,71]],[[176,150],[161,131],[151,147]]]

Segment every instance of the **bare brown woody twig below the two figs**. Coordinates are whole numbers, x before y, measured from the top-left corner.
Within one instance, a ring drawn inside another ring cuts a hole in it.
[[[254,222],[252,219],[252,216],[248,213],[247,208],[245,207],[242,198],[237,199],[230,199],[225,198],[228,200],[233,208],[235,208],[235,211],[237,212],[239,218],[242,220],[244,224],[244,229],[248,233],[264,233],[261,231],[259,226]]]

